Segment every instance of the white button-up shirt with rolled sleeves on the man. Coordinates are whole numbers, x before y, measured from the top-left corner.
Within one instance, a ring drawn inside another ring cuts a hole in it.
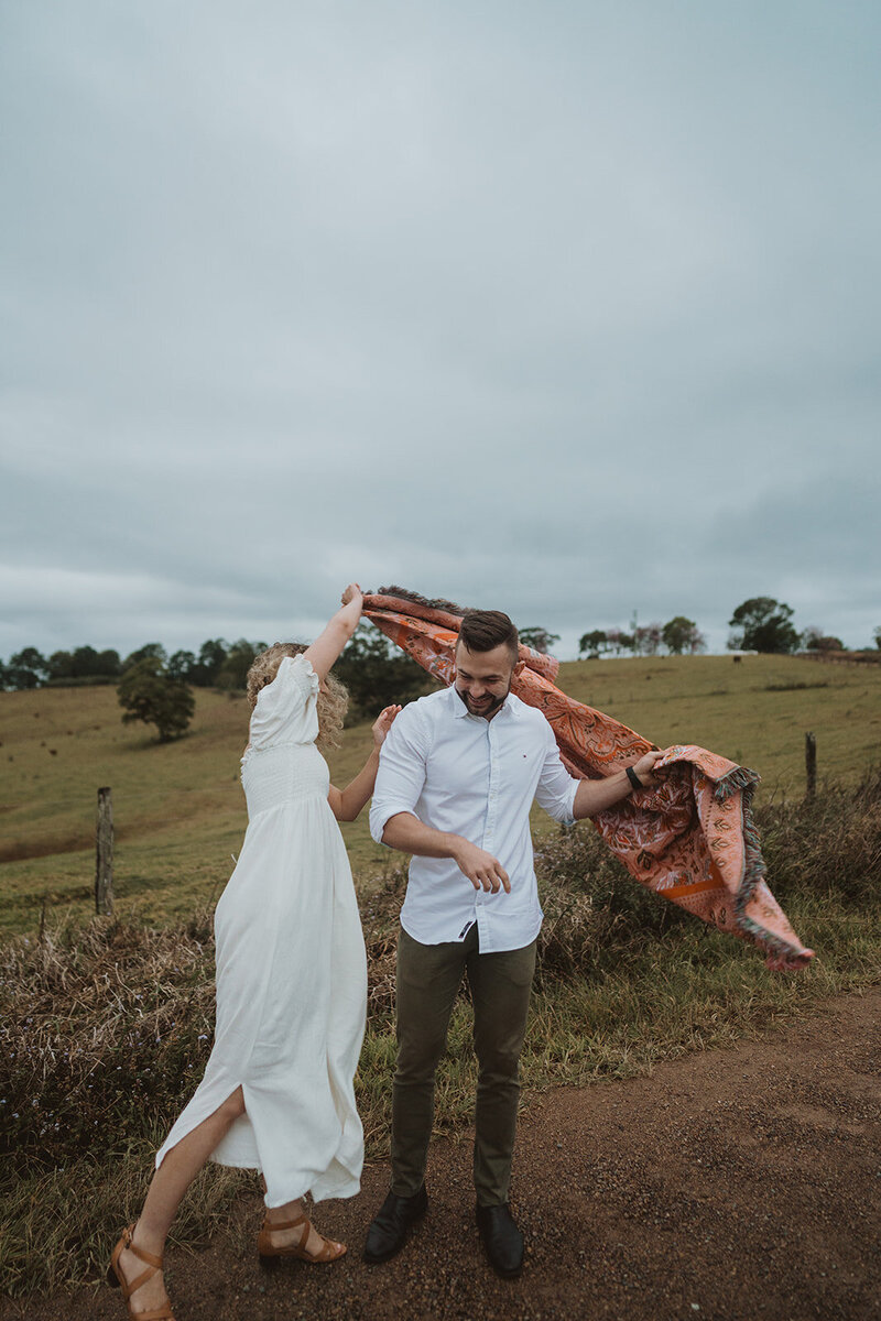
[[[551,725],[512,694],[491,720],[472,716],[453,687],[405,707],[379,754],[370,831],[412,812],[425,826],[462,835],[502,864],[511,893],[476,890],[452,857],[413,857],[400,911],[420,945],[464,941],[477,922],[483,954],[519,950],[542,927],[530,807],[572,822],[579,781],[560,761]]]

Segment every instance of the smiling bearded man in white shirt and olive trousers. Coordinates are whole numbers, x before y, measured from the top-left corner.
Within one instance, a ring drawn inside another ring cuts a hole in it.
[[[519,1273],[523,1235],[509,1185],[542,926],[530,807],[536,799],[571,823],[654,783],[656,752],[608,779],[573,779],[546,717],[511,694],[518,668],[518,634],[507,614],[468,613],[453,687],[405,707],[380,753],[370,828],[375,840],[413,856],[398,945],[391,1192],[365,1246],[374,1264],[403,1247],[428,1206],[435,1073],[468,970],[479,1066],[477,1225],[493,1268]]]

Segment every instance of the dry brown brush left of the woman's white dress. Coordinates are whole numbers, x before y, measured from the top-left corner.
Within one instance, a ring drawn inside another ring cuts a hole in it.
[[[170,1114],[210,1053],[210,919],[153,931],[96,918],[3,950],[0,1153],[62,1165],[125,1149]]]

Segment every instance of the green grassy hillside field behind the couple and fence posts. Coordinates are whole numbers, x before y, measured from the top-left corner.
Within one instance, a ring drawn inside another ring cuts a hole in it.
[[[881,666],[796,657],[655,657],[564,664],[559,684],[652,738],[696,742],[752,766],[759,802],[803,793],[804,732],[818,738],[820,779],[855,783],[881,749]],[[239,695],[197,692],[180,742],[123,725],[112,688],[0,694],[0,930],[26,931],[44,904],[61,915],[92,908],[96,790],[115,812],[120,914],[181,917],[215,898],[244,832],[238,760],[247,707]],[[370,746],[369,725],[346,731],[330,758],[345,783]],[[536,812],[535,826],[547,818]],[[363,884],[388,855],[366,812],[343,826]]]

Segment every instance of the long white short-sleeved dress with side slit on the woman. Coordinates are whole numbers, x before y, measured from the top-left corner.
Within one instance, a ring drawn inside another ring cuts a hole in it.
[[[217,1028],[205,1077],[156,1156],[230,1096],[244,1115],[211,1153],[259,1169],[265,1205],[354,1197],[363,1129],[353,1079],[367,966],[349,857],[314,745],[318,679],[285,657],[260,690],[242,758],[248,827],[214,915]]]

